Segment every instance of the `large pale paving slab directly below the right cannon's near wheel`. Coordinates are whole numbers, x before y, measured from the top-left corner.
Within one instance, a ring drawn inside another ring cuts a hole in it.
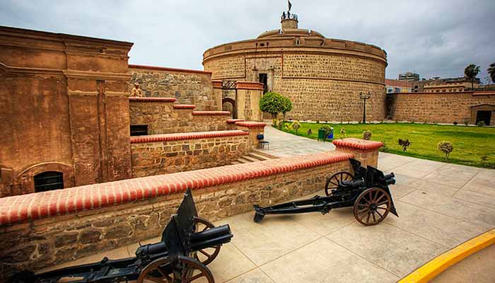
[[[351,224],[327,238],[399,277],[448,249],[386,223]]]

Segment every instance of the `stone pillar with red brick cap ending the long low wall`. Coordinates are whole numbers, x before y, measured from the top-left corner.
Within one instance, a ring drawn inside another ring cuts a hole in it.
[[[333,144],[337,151],[354,154],[354,158],[361,161],[361,166],[378,167],[378,149],[383,146],[383,142],[350,137],[347,139],[335,139]]]

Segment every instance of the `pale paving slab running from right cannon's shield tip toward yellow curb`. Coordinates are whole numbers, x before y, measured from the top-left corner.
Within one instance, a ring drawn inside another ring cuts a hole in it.
[[[447,248],[458,246],[487,231],[485,227],[453,219],[450,216],[431,212],[405,202],[395,202],[395,208],[399,218],[389,214],[385,222]]]

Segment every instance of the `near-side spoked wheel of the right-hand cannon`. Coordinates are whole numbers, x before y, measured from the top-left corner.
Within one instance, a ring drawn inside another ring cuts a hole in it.
[[[385,190],[371,187],[354,202],[354,217],[364,226],[376,225],[387,217],[392,207],[392,200]]]

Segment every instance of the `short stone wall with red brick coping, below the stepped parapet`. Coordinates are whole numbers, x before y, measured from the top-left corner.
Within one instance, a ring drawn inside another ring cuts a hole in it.
[[[132,137],[132,176],[229,165],[247,153],[248,135],[233,130]]]

